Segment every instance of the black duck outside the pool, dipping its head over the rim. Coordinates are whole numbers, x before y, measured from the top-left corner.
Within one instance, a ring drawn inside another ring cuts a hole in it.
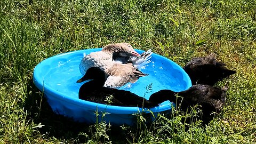
[[[212,113],[219,113],[226,102],[227,88],[220,89],[210,85],[193,85],[186,91],[173,92],[171,90],[161,90],[151,94],[149,101],[162,103],[170,100],[174,102],[182,111],[186,111],[195,105],[201,106],[204,124],[213,118]],[[176,95],[180,97],[175,97]]]

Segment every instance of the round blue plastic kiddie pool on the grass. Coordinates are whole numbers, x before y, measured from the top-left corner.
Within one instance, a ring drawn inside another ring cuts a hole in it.
[[[60,115],[71,117],[74,121],[93,124],[99,121],[109,121],[113,125],[137,123],[137,116],[134,114],[146,113],[146,115],[154,115],[158,113],[170,112],[172,102],[165,101],[158,107],[143,109],[138,107],[119,107],[107,106],[100,103],[90,102],[78,99],[79,87],[83,83],[76,83],[82,77],[79,72],[79,63],[84,53],[100,51],[101,49],[87,49],[74,52],[55,55],[54,57],[45,59],[40,62],[34,70],[34,83],[41,90],[52,110]],[[144,51],[136,50],[138,53]],[[141,69],[143,73],[149,74],[140,77],[134,84],[126,84],[120,89],[131,91],[135,94],[149,99],[154,92],[163,89],[173,91],[187,90],[191,86],[191,81],[187,73],[177,63],[162,57],[161,55],[152,54],[151,62],[145,69]],[[152,84],[151,92],[146,93],[146,88]],[[97,118],[95,112],[98,112]],[[102,113],[106,113],[101,117]],[[149,116],[147,121],[152,121]]]

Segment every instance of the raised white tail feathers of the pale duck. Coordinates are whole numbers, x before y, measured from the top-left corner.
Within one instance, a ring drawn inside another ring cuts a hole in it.
[[[145,66],[151,62],[151,55],[152,55],[151,49],[148,51],[143,52],[140,57],[131,57],[130,62],[132,62],[132,65],[137,69],[145,69]]]

